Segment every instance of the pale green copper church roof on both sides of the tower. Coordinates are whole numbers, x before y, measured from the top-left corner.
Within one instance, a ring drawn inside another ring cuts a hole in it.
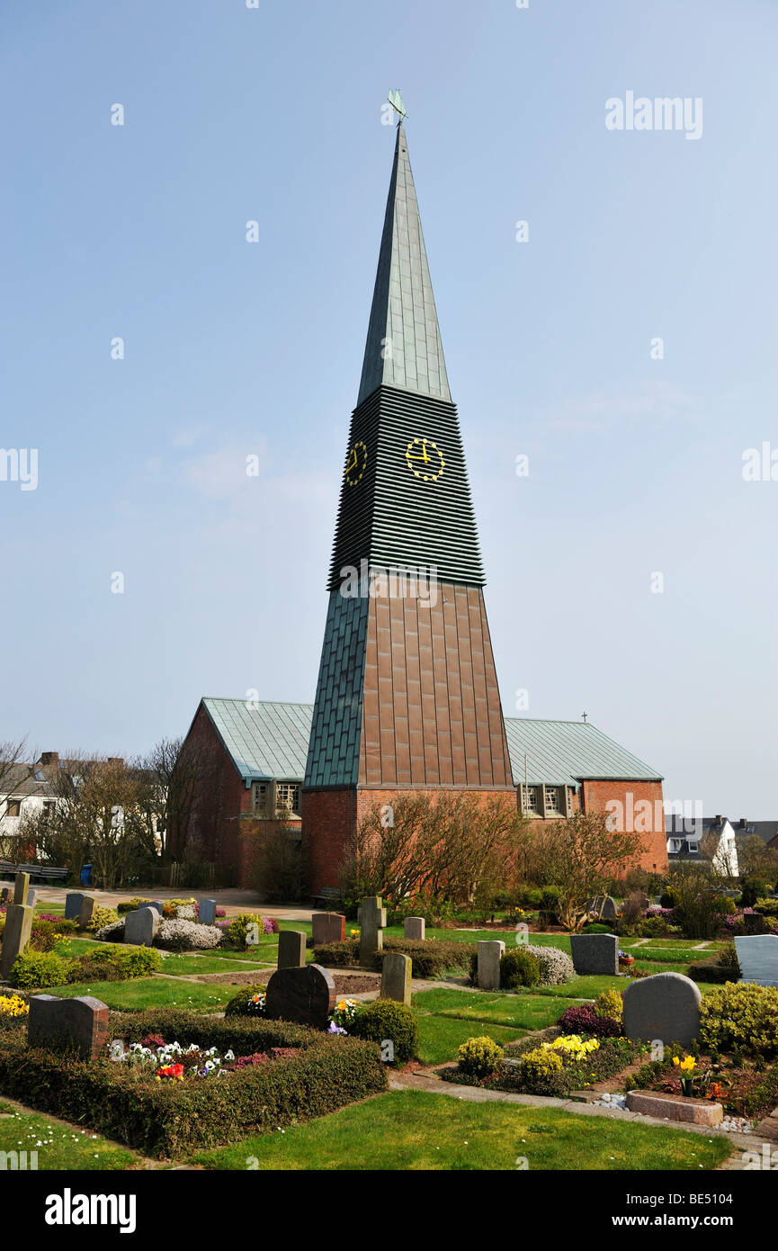
[[[276,778],[301,782],[313,718],[313,704],[246,704],[244,699],[214,699],[203,704],[235,768],[246,781]],[[530,786],[573,786],[589,778],[659,782],[662,776],[590,722],[534,721],[507,717],[505,732],[513,779]]]

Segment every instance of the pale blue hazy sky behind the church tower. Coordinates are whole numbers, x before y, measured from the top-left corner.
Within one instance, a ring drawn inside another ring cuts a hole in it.
[[[742,473],[778,448],[775,6],[0,28],[0,443],[39,455],[0,482],[0,739],[131,754],[203,694],[313,701],[399,86],[505,713],[585,708],[667,798],[777,816],[778,483]],[[702,98],[700,138],[608,130],[627,91]]]

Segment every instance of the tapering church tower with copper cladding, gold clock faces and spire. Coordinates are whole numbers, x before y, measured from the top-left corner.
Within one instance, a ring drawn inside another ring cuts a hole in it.
[[[483,585],[400,118],[303,789],[313,894],[373,799],[513,791]]]

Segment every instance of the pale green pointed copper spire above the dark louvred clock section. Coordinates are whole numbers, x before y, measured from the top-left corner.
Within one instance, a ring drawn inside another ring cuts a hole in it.
[[[361,404],[381,384],[449,402],[452,398],[402,121],[356,403]]]

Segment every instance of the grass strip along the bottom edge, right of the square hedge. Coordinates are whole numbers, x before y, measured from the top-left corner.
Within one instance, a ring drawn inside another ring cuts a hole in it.
[[[470,1103],[448,1095],[393,1091],[284,1133],[206,1151],[206,1168],[530,1170],[714,1168],[725,1138],[587,1117],[558,1108]]]

